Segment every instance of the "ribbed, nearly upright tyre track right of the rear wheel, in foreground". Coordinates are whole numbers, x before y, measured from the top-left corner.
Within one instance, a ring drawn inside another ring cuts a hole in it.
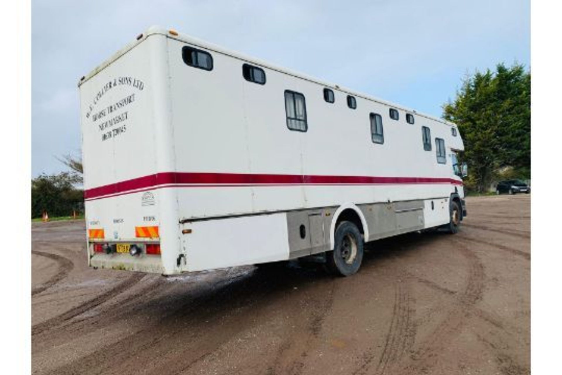
[[[416,326],[415,301],[411,296],[407,277],[402,277],[396,282],[395,301],[392,310],[391,322],[384,342],[383,353],[377,363],[375,373],[391,373],[392,369],[406,352],[414,345]],[[375,357],[373,349],[369,349],[363,356],[363,364],[353,372],[353,375],[362,375],[369,371]]]

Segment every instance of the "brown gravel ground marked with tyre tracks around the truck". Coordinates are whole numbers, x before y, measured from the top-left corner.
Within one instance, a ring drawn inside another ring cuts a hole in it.
[[[33,223],[33,372],[528,374],[530,196],[467,208],[456,235],[369,243],[348,278],[94,270],[83,221]]]

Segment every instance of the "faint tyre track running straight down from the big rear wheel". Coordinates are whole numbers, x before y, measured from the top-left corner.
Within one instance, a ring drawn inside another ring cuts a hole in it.
[[[305,367],[304,360],[308,356],[314,341],[318,340],[325,318],[332,311],[336,282],[337,280],[329,281],[328,296],[325,296],[324,293],[319,293],[319,297],[308,300],[312,302],[312,306],[307,306],[307,310],[310,311],[310,315],[307,318],[299,317],[299,314],[297,314],[297,317],[291,319],[292,322],[306,322],[303,327],[299,327],[296,330],[305,333],[303,337],[289,336],[283,341],[277,350],[273,364],[268,367],[266,374],[289,373],[298,375],[302,373]],[[298,312],[300,313],[301,311]],[[288,362],[288,365],[283,365],[286,362]]]

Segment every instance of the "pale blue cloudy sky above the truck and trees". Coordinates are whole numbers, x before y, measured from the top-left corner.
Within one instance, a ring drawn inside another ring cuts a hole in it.
[[[463,77],[529,67],[529,1],[32,2],[31,173],[80,150],[76,83],[151,25],[441,116]]]

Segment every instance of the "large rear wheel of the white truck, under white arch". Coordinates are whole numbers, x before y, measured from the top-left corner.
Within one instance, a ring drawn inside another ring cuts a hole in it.
[[[334,250],[326,253],[330,273],[350,276],[359,270],[363,260],[363,236],[352,222],[341,222],[334,236]]]

